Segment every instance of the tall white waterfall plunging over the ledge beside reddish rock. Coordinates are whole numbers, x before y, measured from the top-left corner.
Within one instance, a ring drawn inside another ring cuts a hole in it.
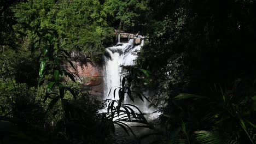
[[[121,65],[133,65],[136,59],[136,52],[141,49],[141,45],[133,45],[133,39],[129,43],[118,43],[117,46],[108,47],[107,55],[104,56],[104,98],[107,99],[110,89],[120,87]],[[113,91],[112,91],[113,92]],[[118,95],[118,91],[116,91]],[[108,99],[113,99],[110,93]]]

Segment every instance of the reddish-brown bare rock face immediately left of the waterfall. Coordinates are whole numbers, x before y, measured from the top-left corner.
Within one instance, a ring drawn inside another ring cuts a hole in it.
[[[102,98],[104,93],[102,67],[93,63],[72,63],[75,65],[76,69],[73,70],[71,67],[68,69],[79,76],[76,77],[76,79],[78,82],[83,83],[82,90],[89,91],[92,95]]]

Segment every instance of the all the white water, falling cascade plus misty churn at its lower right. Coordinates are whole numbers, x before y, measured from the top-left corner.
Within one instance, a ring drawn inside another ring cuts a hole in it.
[[[120,37],[118,37],[120,41]],[[119,46],[118,46],[119,45]],[[141,50],[141,47],[144,45],[144,40],[142,40],[141,45],[133,45],[133,39],[129,40],[129,43],[118,43],[117,46],[108,47],[106,49],[107,55],[104,56],[104,97],[106,99],[118,99],[118,91],[115,91],[114,98],[114,89],[121,87],[121,65],[134,65],[137,58],[137,52]],[[111,89],[111,91],[110,91]],[[109,94],[110,92],[110,94]],[[109,96],[108,96],[109,94]],[[156,118],[159,113],[153,113],[155,110],[148,107],[149,103],[146,99],[145,102],[140,99],[136,99],[135,103],[130,101],[129,98],[125,98],[125,103],[133,104],[139,107],[143,113],[147,113],[148,119]]]

